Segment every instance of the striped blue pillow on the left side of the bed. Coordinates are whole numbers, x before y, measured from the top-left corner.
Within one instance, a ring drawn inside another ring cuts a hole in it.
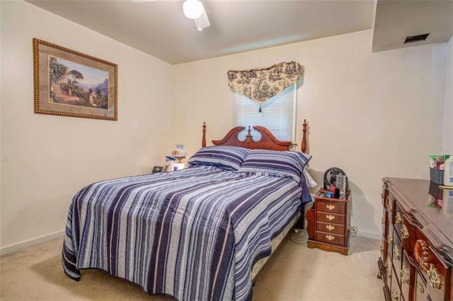
[[[190,165],[214,165],[225,170],[239,170],[249,151],[248,148],[239,146],[207,146],[200,148],[187,163]]]

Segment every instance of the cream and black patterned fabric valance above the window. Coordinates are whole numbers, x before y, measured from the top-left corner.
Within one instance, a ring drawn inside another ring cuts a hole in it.
[[[265,69],[230,70],[227,74],[231,89],[261,105],[299,81],[300,65],[296,61],[289,61]]]

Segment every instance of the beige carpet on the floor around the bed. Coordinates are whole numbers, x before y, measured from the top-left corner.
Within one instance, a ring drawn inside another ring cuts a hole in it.
[[[292,237],[305,242],[306,232]],[[349,255],[283,242],[253,288],[253,300],[384,300],[377,279],[377,240],[351,237]],[[103,271],[82,271],[81,281],[62,269],[62,240],[0,257],[0,300],[172,300],[152,296]]]

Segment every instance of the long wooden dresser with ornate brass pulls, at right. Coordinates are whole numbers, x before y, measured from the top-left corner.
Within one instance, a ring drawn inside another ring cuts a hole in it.
[[[428,180],[383,182],[378,277],[385,300],[452,300],[453,203],[433,206]]]

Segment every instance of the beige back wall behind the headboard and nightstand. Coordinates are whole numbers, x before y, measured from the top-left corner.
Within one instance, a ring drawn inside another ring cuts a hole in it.
[[[233,126],[229,69],[298,61],[297,140],[309,122],[310,167],[319,184],[340,167],[352,189],[352,225],[381,233],[382,177],[428,178],[440,151],[446,43],[371,52],[372,30],[175,66],[175,130],[189,153]],[[200,135],[193,133],[199,131]]]

